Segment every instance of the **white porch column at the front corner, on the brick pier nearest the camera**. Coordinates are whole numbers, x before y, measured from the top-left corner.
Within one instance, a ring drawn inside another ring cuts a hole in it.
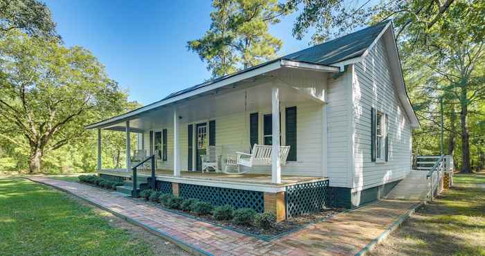
[[[271,181],[281,183],[281,163],[279,158],[279,89],[273,87],[271,90],[272,104],[272,129],[273,129],[273,148],[271,154]]]

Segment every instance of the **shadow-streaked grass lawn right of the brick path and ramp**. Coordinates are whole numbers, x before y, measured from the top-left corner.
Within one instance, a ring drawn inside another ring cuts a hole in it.
[[[455,174],[455,188],[424,205],[372,255],[485,255],[485,172]]]

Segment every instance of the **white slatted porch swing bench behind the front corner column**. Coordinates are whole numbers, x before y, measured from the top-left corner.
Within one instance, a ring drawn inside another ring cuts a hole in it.
[[[252,154],[236,152],[236,155],[228,155],[226,167],[224,168],[224,173],[244,174],[246,172],[249,172],[249,169],[244,172],[240,172],[240,165],[249,168],[253,166],[270,166],[272,161],[272,149],[273,146],[271,145],[254,144]],[[279,158],[281,165],[286,165],[286,158],[288,158],[288,153],[290,153],[290,146],[280,146]],[[236,165],[237,172],[229,172],[228,167],[233,167]]]

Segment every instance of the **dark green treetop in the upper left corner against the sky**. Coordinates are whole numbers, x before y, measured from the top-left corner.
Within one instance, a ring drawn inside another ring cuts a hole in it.
[[[60,38],[51,10],[36,0],[0,0],[0,37],[13,29],[30,36]]]

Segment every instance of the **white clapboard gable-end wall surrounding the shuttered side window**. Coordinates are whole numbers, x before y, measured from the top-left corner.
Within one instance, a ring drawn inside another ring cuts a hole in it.
[[[403,179],[411,170],[411,127],[396,96],[382,39],[353,66],[354,170],[357,190]],[[371,161],[371,107],[388,115],[389,161]]]

